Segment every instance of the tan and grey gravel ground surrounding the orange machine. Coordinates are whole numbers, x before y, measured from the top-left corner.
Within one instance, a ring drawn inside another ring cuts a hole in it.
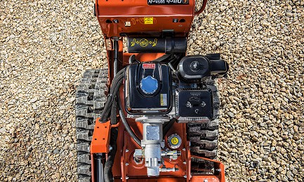
[[[209,1],[190,54],[230,76],[219,160],[227,181],[303,181],[304,2]],[[0,0],[0,181],[75,181],[75,81],[105,64],[91,1]]]

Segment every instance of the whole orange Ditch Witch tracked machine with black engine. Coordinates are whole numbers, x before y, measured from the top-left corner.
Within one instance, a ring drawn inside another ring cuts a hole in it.
[[[219,54],[187,55],[192,20],[205,6],[95,1],[107,68],[85,71],[77,87],[79,181],[225,181],[214,160],[214,79],[228,65]]]

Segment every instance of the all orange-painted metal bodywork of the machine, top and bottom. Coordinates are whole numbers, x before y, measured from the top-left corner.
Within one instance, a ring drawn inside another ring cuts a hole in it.
[[[119,40],[119,68],[128,65],[128,57],[133,54],[123,52],[123,40],[121,36],[161,36],[163,30],[173,30],[175,36],[188,36],[194,15],[201,13],[206,6],[197,12],[194,11],[194,0],[189,0],[187,5],[147,5],[147,0],[95,0],[95,13],[105,37],[108,60],[108,86],[110,87],[113,78],[114,50],[112,46],[113,38]],[[146,23],[145,18],[152,18],[152,23]],[[173,22],[173,18],[179,22]],[[182,20],[182,21],[180,21]],[[141,62],[151,61],[161,57],[164,53],[138,53],[134,54]],[[124,92],[121,87],[121,102],[124,105]],[[126,112],[125,112],[126,114]],[[142,138],[143,126],[134,119],[128,118],[128,124],[133,132]],[[119,121],[120,122],[120,121]],[[99,118],[95,121],[95,128],[91,142],[91,169],[92,181],[94,179],[94,154],[109,153],[110,129],[118,127],[117,154],[114,160],[112,172],[114,181],[225,181],[225,169],[221,162],[190,155],[190,142],[187,141],[186,124],[174,123],[164,139],[176,133],[182,137],[182,145],[177,150],[181,151],[178,160],[164,159],[166,167],[178,167],[178,172],[161,172],[157,178],[148,178],[147,170],[143,164],[136,164],[133,161],[133,153],[136,148],[140,148],[124,129],[124,125],[110,125],[99,123]],[[166,141],[165,141],[166,144]],[[168,146],[166,146],[168,147]],[[191,158],[200,158],[214,162],[217,171],[214,175],[191,176]]]

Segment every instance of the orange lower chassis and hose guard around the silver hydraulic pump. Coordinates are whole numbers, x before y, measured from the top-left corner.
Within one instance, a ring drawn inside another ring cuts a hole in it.
[[[122,87],[121,87],[122,91]],[[121,92],[121,101],[124,102],[124,92]],[[124,103],[122,103],[124,104]],[[125,112],[126,114],[126,112]],[[138,123],[133,118],[128,118],[128,125],[133,129],[133,132],[139,137],[143,136],[143,125]],[[135,149],[139,149],[140,146],[128,135],[124,130],[124,125],[111,126],[110,121],[107,123],[100,123],[99,118],[95,121],[95,128],[93,132],[93,138],[91,143],[91,157],[94,153],[108,153],[109,152],[109,140],[111,127],[118,127],[119,134],[117,138],[117,154],[114,160],[114,166],[112,168],[115,181],[191,181],[199,182],[207,179],[208,181],[225,181],[225,168],[224,165],[216,160],[210,160],[208,158],[201,158],[199,156],[190,155],[190,142],[187,141],[186,124],[174,123],[168,133],[164,136],[165,145],[168,148],[166,139],[171,134],[178,134],[182,137],[182,145],[177,148],[181,151],[181,155],[177,160],[165,159],[164,164],[166,167],[176,167],[178,172],[161,172],[157,178],[147,177],[147,169],[145,168],[145,162],[137,164],[133,160],[133,153]],[[215,174],[209,175],[191,175],[191,158],[199,158],[209,162],[214,162]],[[94,168],[93,160],[92,169]],[[93,170],[92,170],[93,172]],[[92,181],[94,181],[94,174],[92,173]]]

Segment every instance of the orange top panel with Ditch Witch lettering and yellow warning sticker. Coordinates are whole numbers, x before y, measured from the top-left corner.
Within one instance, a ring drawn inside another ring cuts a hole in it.
[[[147,0],[96,0],[95,13],[105,37],[157,36],[164,30],[174,30],[176,36],[187,36],[194,17],[194,0],[183,1],[189,4],[148,5]]]

